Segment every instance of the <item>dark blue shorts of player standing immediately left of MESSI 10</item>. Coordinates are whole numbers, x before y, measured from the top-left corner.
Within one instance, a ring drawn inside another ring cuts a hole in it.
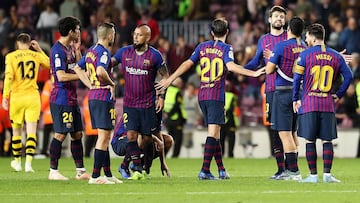
[[[296,131],[297,114],[293,111],[292,90],[276,90],[273,95],[271,129]]]

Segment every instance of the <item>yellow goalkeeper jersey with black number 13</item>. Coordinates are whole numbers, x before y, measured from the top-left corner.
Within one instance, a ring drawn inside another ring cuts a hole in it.
[[[9,98],[10,92],[27,94],[37,91],[40,65],[50,68],[49,57],[44,52],[19,49],[7,54],[3,97]]]

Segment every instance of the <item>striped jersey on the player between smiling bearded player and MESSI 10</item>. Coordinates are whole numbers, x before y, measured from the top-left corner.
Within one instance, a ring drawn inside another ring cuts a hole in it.
[[[292,86],[295,61],[305,48],[305,44],[296,38],[285,40],[275,46],[269,60],[278,66],[275,70],[275,86]]]

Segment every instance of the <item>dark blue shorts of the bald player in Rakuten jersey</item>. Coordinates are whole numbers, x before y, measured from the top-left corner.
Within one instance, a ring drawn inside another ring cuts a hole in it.
[[[134,130],[141,135],[151,136],[158,130],[155,107],[148,109],[124,107],[123,119],[126,131]]]

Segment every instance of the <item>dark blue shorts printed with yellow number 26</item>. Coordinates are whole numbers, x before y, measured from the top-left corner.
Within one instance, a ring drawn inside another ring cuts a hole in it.
[[[56,133],[67,134],[83,130],[79,106],[64,106],[50,103],[51,117]]]

